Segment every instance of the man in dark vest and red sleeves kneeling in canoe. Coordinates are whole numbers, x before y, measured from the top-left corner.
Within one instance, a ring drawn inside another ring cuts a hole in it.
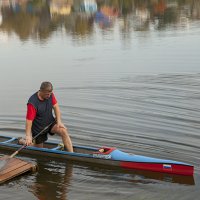
[[[55,118],[52,110],[54,111]],[[45,129],[49,128],[32,141],[33,137]],[[34,93],[27,103],[26,114],[26,145],[43,147],[43,143],[50,135],[57,134],[62,137],[62,141],[69,152],[73,152],[72,142],[67,128],[61,121],[60,108],[53,93],[53,86],[50,82],[43,82],[40,90]],[[34,144],[33,144],[34,142]]]

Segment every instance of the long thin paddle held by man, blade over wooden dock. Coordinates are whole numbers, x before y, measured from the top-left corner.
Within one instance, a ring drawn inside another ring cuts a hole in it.
[[[36,139],[39,135],[41,135],[44,131],[46,131],[55,121],[53,121],[52,123],[50,123],[49,125],[47,125],[42,131],[40,131],[37,135],[35,135],[33,137],[33,140]],[[8,162],[9,159],[13,158],[14,156],[16,156],[22,149],[26,148],[26,144],[24,144],[23,146],[21,146],[17,151],[15,151],[13,154],[11,154],[10,156],[6,156],[6,158],[4,160],[0,160],[0,170],[6,165],[6,163]],[[3,157],[2,157],[3,158]],[[1,159],[2,159],[1,158]]]

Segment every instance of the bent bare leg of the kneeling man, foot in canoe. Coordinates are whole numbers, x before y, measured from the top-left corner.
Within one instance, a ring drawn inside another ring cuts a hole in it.
[[[72,142],[71,142],[71,139],[69,137],[69,133],[68,133],[66,127],[65,128],[60,128],[60,127],[57,126],[57,124],[55,124],[53,126],[53,128],[51,129],[51,132],[61,136],[62,137],[62,141],[63,141],[65,147],[67,148],[67,150],[69,152],[73,152]]]

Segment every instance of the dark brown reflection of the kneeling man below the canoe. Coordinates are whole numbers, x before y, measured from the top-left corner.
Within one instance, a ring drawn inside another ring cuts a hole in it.
[[[36,180],[31,187],[36,198],[39,200],[67,200],[73,165],[70,163],[49,165],[43,160],[39,163]],[[62,165],[65,168],[61,168]]]

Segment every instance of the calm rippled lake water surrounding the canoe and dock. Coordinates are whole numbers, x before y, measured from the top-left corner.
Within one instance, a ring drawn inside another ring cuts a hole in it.
[[[1,134],[24,135],[27,100],[50,80],[74,144],[195,166],[188,180],[19,154],[39,171],[2,199],[198,199],[199,1],[0,2]]]

